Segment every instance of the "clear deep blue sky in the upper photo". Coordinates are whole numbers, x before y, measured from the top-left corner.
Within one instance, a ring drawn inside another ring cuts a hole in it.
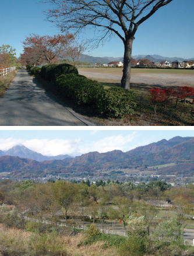
[[[19,55],[22,52],[22,41],[30,33],[60,33],[54,23],[46,20],[44,11],[47,9],[51,9],[50,4],[40,0],[1,1],[0,45],[13,45]],[[133,44],[133,55],[159,54],[165,57],[193,58],[193,9],[193,0],[174,0],[158,10],[139,27]],[[90,30],[86,36],[91,37]],[[98,57],[121,57],[122,41],[114,37],[96,50],[86,53]]]

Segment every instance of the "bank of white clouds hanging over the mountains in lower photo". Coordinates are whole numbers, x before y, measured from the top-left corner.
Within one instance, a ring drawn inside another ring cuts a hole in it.
[[[77,156],[91,151],[100,153],[108,152],[114,149],[122,151],[129,150],[131,143],[136,138],[136,132],[124,135],[107,136],[96,141],[84,142],[82,139],[0,139],[0,149],[8,150],[13,146],[22,144],[27,148],[34,150],[46,156],[72,155]]]

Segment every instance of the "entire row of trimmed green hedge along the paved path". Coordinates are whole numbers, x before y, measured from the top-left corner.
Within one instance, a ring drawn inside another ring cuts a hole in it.
[[[39,70],[33,68],[32,72]],[[75,66],[45,65],[41,68],[41,76],[52,82],[47,85],[49,89],[71,100],[76,106],[92,110],[95,114],[121,118],[134,113],[136,103],[131,91],[120,87],[104,89],[96,80],[79,75]]]

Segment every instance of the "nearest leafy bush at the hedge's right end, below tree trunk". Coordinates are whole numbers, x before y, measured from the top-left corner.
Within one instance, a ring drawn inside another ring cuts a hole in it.
[[[134,113],[136,103],[133,92],[119,87],[111,87],[105,90],[103,99],[103,113],[107,117],[124,117]]]

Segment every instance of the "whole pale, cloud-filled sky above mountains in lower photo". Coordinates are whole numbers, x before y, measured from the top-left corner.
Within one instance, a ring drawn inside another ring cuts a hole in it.
[[[22,144],[43,155],[68,154],[72,156],[119,149],[124,152],[174,136],[194,136],[194,131],[0,131],[0,149],[7,150]]]

